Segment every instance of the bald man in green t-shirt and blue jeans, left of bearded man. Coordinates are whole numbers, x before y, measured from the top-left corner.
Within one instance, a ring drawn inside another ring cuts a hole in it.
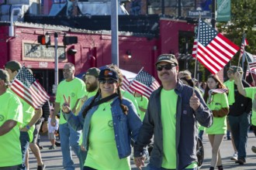
[[[64,95],[71,99],[71,110],[76,112],[76,108],[79,100],[85,97],[85,83],[74,77],[74,64],[66,63],[63,68],[64,79],[57,87],[56,100],[54,104],[54,114],[51,118],[52,126],[55,126],[55,117],[60,111],[60,106],[64,104]],[[61,151],[63,158],[63,166],[65,170],[74,170],[74,162],[71,158],[71,148],[78,156],[80,164],[82,164],[81,154],[79,152],[79,139],[81,137],[81,131],[74,131],[67,124],[67,121],[63,117],[61,110],[61,117],[59,121],[59,131],[61,136]]]

